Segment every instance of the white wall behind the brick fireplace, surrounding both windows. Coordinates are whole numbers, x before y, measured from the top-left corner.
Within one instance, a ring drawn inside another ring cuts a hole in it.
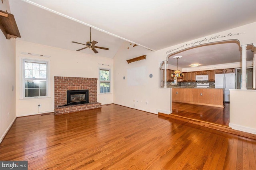
[[[20,52],[49,55],[37,57],[23,55]],[[22,99],[22,58],[49,61],[50,96],[46,99]],[[101,65],[100,65],[101,64]],[[110,66],[105,66],[105,65]],[[88,55],[82,52],[70,51],[29,42],[16,41],[16,114],[17,117],[48,113],[54,111],[54,76],[99,78],[99,69],[108,68],[113,72],[113,59]],[[113,79],[113,76],[111,77]],[[111,81],[112,82],[112,81]],[[113,83],[112,83],[113,84]],[[97,101],[104,104],[113,103],[113,93],[99,95],[97,85]],[[113,92],[113,87],[111,87]],[[41,105],[38,108],[38,105]]]

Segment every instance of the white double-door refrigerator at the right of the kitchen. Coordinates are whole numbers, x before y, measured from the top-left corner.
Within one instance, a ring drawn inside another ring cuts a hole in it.
[[[215,74],[215,88],[224,89],[224,102],[229,102],[230,89],[235,89],[235,73]]]

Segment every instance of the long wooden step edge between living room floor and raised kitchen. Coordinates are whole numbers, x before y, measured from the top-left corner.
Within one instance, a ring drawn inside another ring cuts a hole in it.
[[[256,139],[256,134],[251,134],[251,133],[242,132],[242,131],[239,131],[239,130],[234,130],[231,127],[224,126],[224,125],[219,125],[219,124],[215,124],[215,123],[201,121],[201,120],[198,120],[198,119],[186,118],[186,117],[182,117],[182,116],[174,115],[174,114],[167,115],[167,114],[164,114],[164,113],[158,113],[158,116],[168,117],[168,118],[175,119],[175,120],[178,120],[178,121],[183,121],[183,122],[187,122],[187,123],[192,123],[194,125],[199,125],[199,126],[202,126],[202,127],[207,127],[207,128],[212,128],[212,129],[215,129],[215,130],[220,130],[222,132],[228,132],[228,133],[231,133],[231,134],[244,136],[246,138]]]

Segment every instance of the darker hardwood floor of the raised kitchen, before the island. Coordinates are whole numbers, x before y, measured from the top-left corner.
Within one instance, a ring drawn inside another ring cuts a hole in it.
[[[225,103],[225,105],[226,107],[223,109],[218,107],[172,102],[172,114],[228,126],[229,103]]]

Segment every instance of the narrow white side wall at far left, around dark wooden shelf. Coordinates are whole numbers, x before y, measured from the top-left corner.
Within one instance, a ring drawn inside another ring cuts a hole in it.
[[[11,13],[9,1],[3,2],[0,10]],[[15,39],[7,40],[0,31],[0,143],[15,119]]]

